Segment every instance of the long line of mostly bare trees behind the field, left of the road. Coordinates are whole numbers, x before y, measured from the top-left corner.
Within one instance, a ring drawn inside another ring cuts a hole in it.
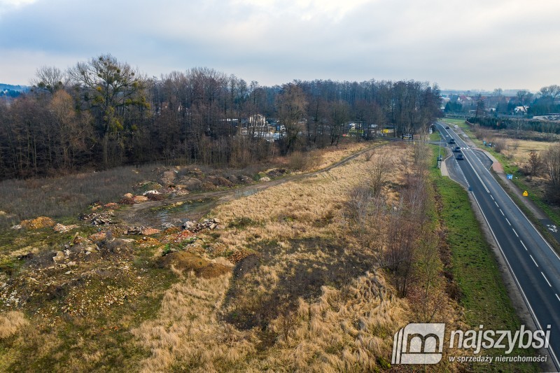
[[[206,68],[158,79],[111,55],[43,67],[33,83],[0,100],[0,178],[153,161],[241,167],[343,135],[419,132],[440,108],[437,85],[412,80],[263,87]]]

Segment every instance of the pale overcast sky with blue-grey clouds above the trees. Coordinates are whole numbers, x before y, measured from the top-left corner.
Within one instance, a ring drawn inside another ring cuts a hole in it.
[[[157,77],[534,91],[560,84],[559,15],[557,0],[0,0],[0,83],[111,53]]]

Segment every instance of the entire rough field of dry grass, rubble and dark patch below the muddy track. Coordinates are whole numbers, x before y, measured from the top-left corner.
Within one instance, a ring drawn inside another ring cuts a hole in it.
[[[302,169],[364,146],[317,151]],[[0,370],[386,370],[393,335],[409,321],[463,326],[442,273],[435,196],[415,171],[428,157],[412,144],[377,146],[216,206],[207,215],[215,230],[142,237],[78,223],[54,233],[55,222],[10,230],[0,239]],[[360,217],[359,191],[381,164],[379,211]],[[419,189],[407,192],[412,184]],[[421,200],[428,210],[417,225],[414,281],[401,297],[381,237],[399,237],[395,211]]]

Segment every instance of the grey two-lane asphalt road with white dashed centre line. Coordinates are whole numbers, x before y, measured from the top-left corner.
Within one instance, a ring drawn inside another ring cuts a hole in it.
[[[493,237],[517,283],[533,320],[540,330],[550,328],[549,353],[560,371],[560,258],[524,216],[489,171],[484,153],[470,148],[457,129],[437,123],[446,146],[460,146],[447,160],[449,173],[467,186],[482,211]],[[449,144],[449,139],[455,144]],[[491,328],[491,325],[485,325]]]

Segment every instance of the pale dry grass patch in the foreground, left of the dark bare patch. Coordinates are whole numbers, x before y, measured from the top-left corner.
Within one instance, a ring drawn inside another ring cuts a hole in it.
[[[167,290],[158,318],[132,330],[150,351],[141,372],[217,372],[241,364],[255,352],[250,335],[218,317],[229,281],[229,274],[201,279],[190,273]]]

